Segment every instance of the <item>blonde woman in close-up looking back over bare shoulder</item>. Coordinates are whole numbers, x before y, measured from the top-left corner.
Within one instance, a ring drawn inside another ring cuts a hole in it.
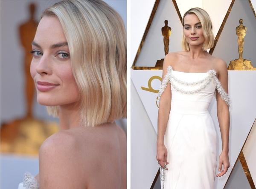
[[[61,131],[20,188],[125,189],[126,135],[114,122],[126,117],[122,18],[102,0],[61,1],[43,12],[31,53],[38,103]]]

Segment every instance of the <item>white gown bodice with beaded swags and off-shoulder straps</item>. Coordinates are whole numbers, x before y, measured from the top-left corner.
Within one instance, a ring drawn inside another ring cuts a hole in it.
[[[206,73],[186,73],[174,71],[169,66],[161,83],[158,99],[160,99],[168,82],[171,84],[172,91],[172,111],[192,114],[208,112],[215,89],[217,89],[221,99],[230,106],[229,96],[216,77],[215,70],[209,70]]]

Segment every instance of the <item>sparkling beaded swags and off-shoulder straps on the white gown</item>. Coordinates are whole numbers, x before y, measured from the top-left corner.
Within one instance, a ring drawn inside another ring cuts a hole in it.
[[[158,91],[158,101],[160,101],[160,97],[163,94],[163,91],[165,90],[167,83],[170,82],[170,84],[172,85],[172,87],[183,94],[195,94],[200,92],[202,89],[204,89],[205,87],[207,87],[207,85],[209,85],[209,83],[212,81],[215,84],[216,89],[218,90],[218,93],[221,96],[221,99],[224,100],[224,102],[230,107],[230,97],[228,96],[228,94],[226,93],[226,91],[223,89],[223,87],[221,86],[220,81],[218,80],[217,76],[216,76],[216,71],[215,70],[209,70],[207,73],[207,76],[204,79],[201,79],[199,81],[196,82],[184,82],[180,79],[177,79],[173,74],[172,74],[172,66],[168,66],[167,68],[167,73],[164,76],[164,79],[161,83],[160,89]],[[180,89],[179,87],[177,87],[175,85],[175,82],[180,84],[180,85],[184,85],[184,86],[197,86],[197,88],[195,90],[183,90]],[[214,93],[214,96],[216,98],[216,90]]]

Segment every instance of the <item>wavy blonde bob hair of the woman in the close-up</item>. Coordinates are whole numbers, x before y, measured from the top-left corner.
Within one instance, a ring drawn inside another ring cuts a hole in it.
[[[122,17],[102,0],[63,0],[42,17],[58,17],[79,88],[81,125],[126,118],[126,30]],[[58,107],[47,107],[58,117]]]

